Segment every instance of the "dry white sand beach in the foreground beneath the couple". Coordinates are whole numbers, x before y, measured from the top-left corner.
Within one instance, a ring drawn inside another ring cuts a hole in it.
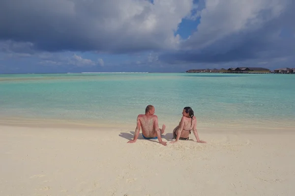
[[[295,195],[295,129],[199,128],[207,144],[166,147],[127,144],[133,131],[2,124],[0,195]]]

